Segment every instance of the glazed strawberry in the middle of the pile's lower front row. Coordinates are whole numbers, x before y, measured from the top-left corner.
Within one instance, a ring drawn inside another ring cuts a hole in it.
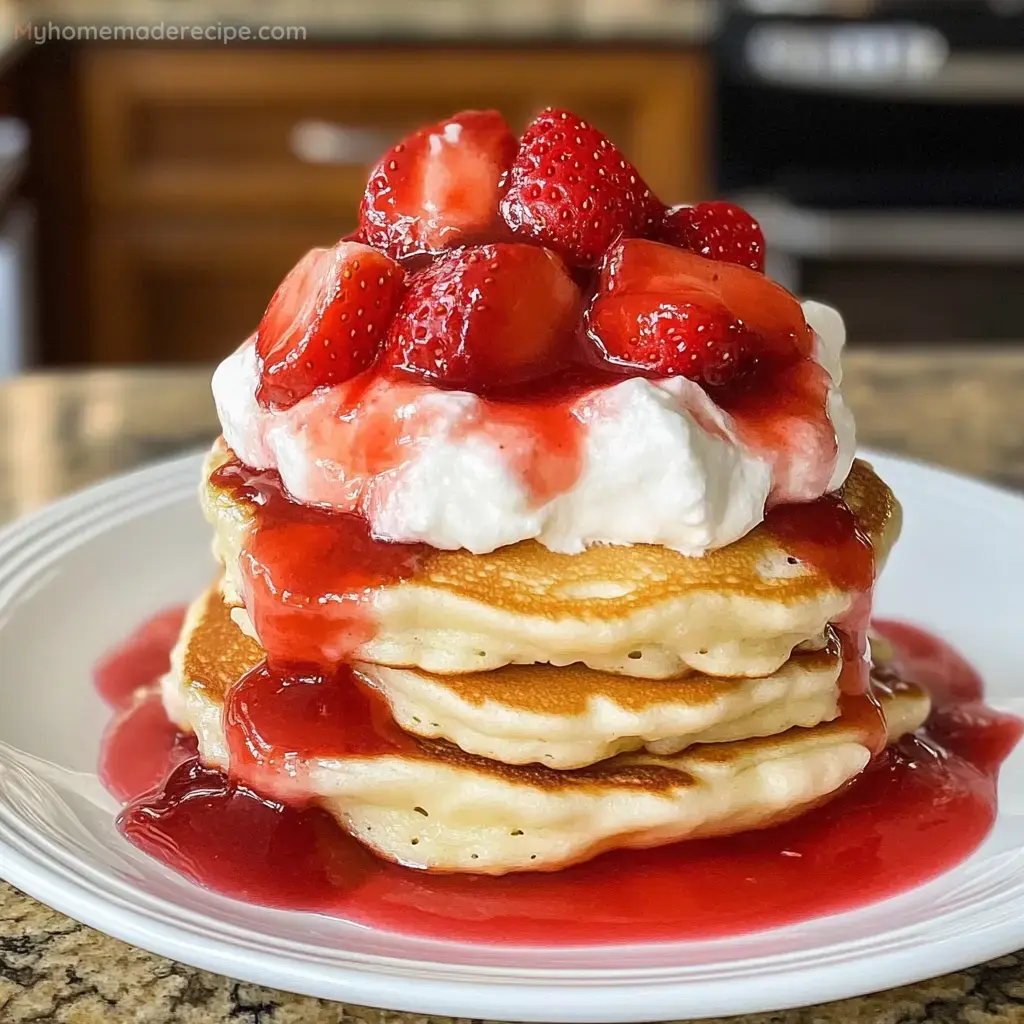
[[[410,279],[386,364],[474,391],[546,377],[575,338],[580,291],[540,246],[459,249]]]

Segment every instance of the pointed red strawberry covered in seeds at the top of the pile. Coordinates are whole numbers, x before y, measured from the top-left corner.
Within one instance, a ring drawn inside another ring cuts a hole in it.
[[[592,266],[660,206],[637,169],[593,125],[548,108],[523,132],[502,216],[568,263]]]

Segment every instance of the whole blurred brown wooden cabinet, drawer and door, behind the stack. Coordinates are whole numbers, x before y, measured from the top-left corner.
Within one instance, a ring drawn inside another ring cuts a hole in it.
[[[578,111],[666,201],[703,195],[701,54],[602,49],[121,49],[79,54],[90,361],[214,359],[309,246],[350,230],[410,129]]]

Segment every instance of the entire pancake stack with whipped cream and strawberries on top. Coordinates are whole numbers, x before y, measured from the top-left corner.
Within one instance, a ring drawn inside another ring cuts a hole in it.
[[[201,758],[501,874],[773,825],[921,725],[868,671],[900,513],[842,318],[764,256],[569,111],[397,142],[214,374],[220,574],[163,686]]]

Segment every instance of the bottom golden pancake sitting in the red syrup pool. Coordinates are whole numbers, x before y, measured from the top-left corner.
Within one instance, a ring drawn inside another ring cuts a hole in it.
[[[617,847],[649,847],[766,827],[819,804],[857,775],[873,737],[843,717],[776,736],[702,743],[681,754],[623,754],[557,771],[506,765],[444,740],[229,764],[227,691],[263,651],[219,601],[189,610],[163,682],[165,707],[194,730],[203,759],[242,773],[258,792],[310,799],[381,856],[436,870],[553,870]],[[923,691],[881,694],[888,738],[918,728]]]

